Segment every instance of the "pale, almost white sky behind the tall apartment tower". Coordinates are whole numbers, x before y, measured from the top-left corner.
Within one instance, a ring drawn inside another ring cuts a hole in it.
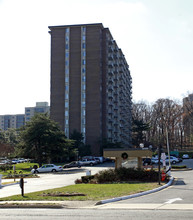
[[[0,0],[0,115],[50,103],[48,26],[103,23],[122,49],[132,99],[193,92],[192,0]]]

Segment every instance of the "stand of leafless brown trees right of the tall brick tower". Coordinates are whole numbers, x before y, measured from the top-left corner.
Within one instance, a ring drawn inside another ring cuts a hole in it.
[[[154,146],[167,145],[171,148],[182,146],[182,106],[170,99],[158,99],[153,105],[139,102],[133,104],[133,119],[149,125],[145,140]]]

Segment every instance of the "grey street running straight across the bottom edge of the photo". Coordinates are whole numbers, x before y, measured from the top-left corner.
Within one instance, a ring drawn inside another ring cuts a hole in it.
[[[192,220],[193,211],[181,210],[88,210],[1,209],[1,220]]]

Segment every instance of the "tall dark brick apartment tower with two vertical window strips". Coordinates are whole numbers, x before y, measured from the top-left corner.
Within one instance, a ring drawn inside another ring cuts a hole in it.
[[[100,152],[102,139],[131,146],[131,75],[108,28],[102,24],[49,27],[50,116],[67,137],[77,130]]]

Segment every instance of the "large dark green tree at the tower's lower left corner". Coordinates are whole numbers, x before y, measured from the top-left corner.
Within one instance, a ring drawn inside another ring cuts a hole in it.
[[[66,152],[66,137],[59,125],[47,114],[36,114],[20,132],[23,155],[34,158],[39,166]]]

